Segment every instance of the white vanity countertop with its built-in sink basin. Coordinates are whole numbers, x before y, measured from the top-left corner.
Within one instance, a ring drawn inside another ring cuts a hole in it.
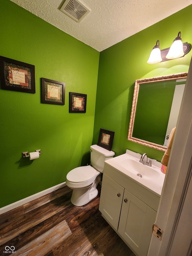
[[[149,167],[140,163],[140,158],[140,154],[127,149],[125,154],[111,158],[105,161],[105,164],[110,165],[153,193],[161,195],[165,179],[165,174],[161,172],[161,163],[152,159],[152,167]]]

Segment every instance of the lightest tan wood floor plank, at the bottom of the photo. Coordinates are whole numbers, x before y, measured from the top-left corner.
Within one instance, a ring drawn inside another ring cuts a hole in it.
[[[19,256],[44,256],[52,247],[63,242],[70,235],[70,228],[64,220],[39,236],[38,239],[32,240],[22,248],[17,249],[16,252]]]

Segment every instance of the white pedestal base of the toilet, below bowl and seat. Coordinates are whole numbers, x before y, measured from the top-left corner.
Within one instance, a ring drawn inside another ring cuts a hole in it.
[[[71,203],[76,206],[82,206],[90,202],[98,195],[97,185],[101,181],[101,175],[98,175],[89,188],[73,189]]]

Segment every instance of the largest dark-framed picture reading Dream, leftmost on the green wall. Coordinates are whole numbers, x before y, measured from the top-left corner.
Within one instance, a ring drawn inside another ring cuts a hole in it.
[[[35,93],[35,66],[0,56],[1,89]]]

